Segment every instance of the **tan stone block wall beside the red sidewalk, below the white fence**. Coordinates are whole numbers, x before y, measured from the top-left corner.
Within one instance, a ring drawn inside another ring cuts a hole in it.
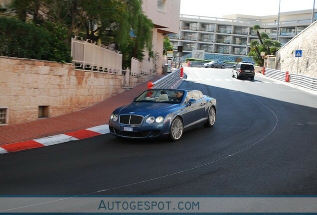
[[[124,91],[123,75],[74,70],[73,64],[0,56],[0,107],[8,124],[53,117],[92,106]],[[138,81],[138,80],[135,80]]]

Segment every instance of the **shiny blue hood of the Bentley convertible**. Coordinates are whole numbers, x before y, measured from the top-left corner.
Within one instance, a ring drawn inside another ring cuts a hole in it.
[[[135,114],[142,116],[147,116],[154,112],[156,114],[167,114],[169,110],[177,107],[179,107],[179,104],[134,102],[119,109],[119,114]]]

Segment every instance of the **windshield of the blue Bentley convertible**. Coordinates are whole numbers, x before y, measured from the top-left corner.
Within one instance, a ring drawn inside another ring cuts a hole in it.
[[[147,90],[138,96],[134,102],[155,102],[178,104],[182,101],[182,90]]]

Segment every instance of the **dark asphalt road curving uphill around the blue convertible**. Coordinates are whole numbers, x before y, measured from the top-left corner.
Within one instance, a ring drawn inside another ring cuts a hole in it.
[[[0,155],[0,195],[317,195],[317,96],[186,68],[216,124],[177,142],[104,134]],[[137,95],[136,95],[137,96]]]

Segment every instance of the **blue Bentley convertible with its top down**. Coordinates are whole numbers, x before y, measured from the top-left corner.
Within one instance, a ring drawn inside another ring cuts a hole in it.
[[[126,138],[181,138],[184,131],[216,120],[216,99],[198,90],[151,89],[130,105],[117,108],[109,120],[110,132]]]

